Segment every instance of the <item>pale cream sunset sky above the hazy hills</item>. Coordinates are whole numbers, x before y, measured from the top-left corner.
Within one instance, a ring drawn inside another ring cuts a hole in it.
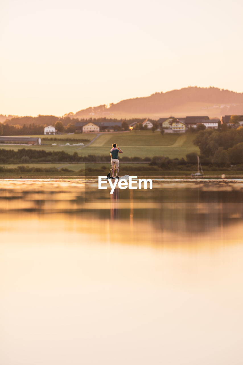
[[[0,114],[183,87],[243,92],[239,0],[1,0]]]

